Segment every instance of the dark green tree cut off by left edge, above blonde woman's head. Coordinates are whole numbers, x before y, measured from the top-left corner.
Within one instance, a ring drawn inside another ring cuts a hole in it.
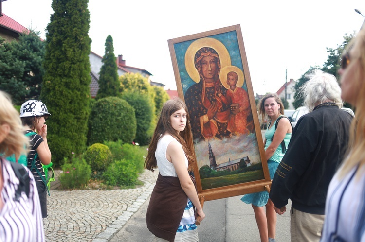
[[[25,64],[13,55],[13,46],[0,37],[0,89],[9,93],[15,104],[21,103],[29,91],[21,81]]]

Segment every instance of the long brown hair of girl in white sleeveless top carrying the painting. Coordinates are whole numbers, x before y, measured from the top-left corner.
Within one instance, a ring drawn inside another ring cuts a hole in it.
[[[178,132],[171,125],[170,116],[181,108],[185,109],[186,111],[186,126],[185,129],[178,134]],[[189,162],[188,170],[192,171],[193,163],[196,162],[193,135],[191,133],[189,113],[187,111],[186,105],[181,99],[168,100],[166,103],[164,103],[164,106],[161,109],[160,117],[157,121],[156,129],[153,133],[151,143],[149,144],[148,153],[145,160],[145,168],[152,172],[154,172],[154,169],[157,168],[157,160],[155,156],[157,142],[160,140],[161,135],[164,135],[165,133],[176,138],[176,140],[181,143]]]

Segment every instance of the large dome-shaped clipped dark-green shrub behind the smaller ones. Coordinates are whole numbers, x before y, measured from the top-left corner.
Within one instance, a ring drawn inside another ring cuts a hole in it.
[[[137,122],[134,109],[127,101],[107,97],[92,105],[89,118],[88,143],[122,140],[131,143],[136,136]]]

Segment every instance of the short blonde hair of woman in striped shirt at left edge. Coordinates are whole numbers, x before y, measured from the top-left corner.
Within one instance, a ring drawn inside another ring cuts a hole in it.
[[[19,113],[14,108],[9,95],[0,90],[0,125],[3,124],[8,124],[10,131],[0,143],[0,154],[5,157],[15,154],[18,159],[21,154],[26,154],[25,147],[29,141],[23,133]]]

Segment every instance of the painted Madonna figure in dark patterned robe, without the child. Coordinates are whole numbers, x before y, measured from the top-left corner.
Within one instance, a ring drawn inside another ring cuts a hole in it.
[[[196,52],[194,64],[200,81],[190,86],[184,96],[194,140],[228,138],[231,134],[227,130],[230,107],[220,99],[226,96],[227,89],[219,79],[219,55],[213,48],[203,47]]]

